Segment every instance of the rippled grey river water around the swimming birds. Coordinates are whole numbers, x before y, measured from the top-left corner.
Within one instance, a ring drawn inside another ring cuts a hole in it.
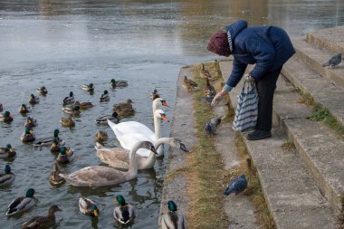
[[[166,159],[154,169],[139,172],[137,179],[119,186],[97,189],[77,188],[69,184],[54,187],[48,180],[55,157],[48,148],[23,144],[25,117],[17,110],[28,103],[35,88],[45,86],[49,93],[31,106],[29,116],[38,119],[37,138],[51,136],[60,129],[60,137],[74,148],[75,160],[62,167],[71,173],[82,167],[99,165],[93,136],[105,130],[110,136],[107,147],[119,146],[108,126],[97,126],[94,119],[111,113],[112,104],[134,101],[135,116],[152,128],[151,100],[157,89],[171,105],[165,109],[171,119],[176,98],[177,75],[187,64],[217,58],[205,47],[211,35],[222,26],[244,18],[250,25],[282,26],[292,37],[326,27],[344,24],[344,2],[338,1],[110,1],[110,0],[33,0],[0,2],[0,103],[11,111],[14,122],[0,124],[0,145],[10,143],[17,157],[9,163],[16,175],[12,186],[0,189],[0,227],[19,228],[33,215],[45,215],[50,205],[58,212],[59,228],[114,228],[113,199],[121,194],[139,208],[139,217],[131,228],[157,228],[162,178]],[[110,90],[111,78],[129,81],[123,89]],[[93,83],[93,95],[81,90],[81,84]],[[99,102],[102,91],[110,91],[110,101]],[[73,129],[62,128],[59,120],[62,99],[73,91],[77,100],[91,101],[95,107],[76,118]],[[162,126],[169,135],[168,124]],[[186,143],[187,145],[187,143]],[[191,148],[192,146],[188,146]],[[167,153],[167,148],[166,148]],[[6,205],[33,187],[40,200],[21,217],[7,218]],[[81,215],[78,198],[88,196],[99,203],[99,220]]]

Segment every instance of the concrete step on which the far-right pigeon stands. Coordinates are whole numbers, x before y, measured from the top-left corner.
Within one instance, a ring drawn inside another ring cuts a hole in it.
[[[320,50],[303,39],[294,39],[292,44],[296,49],[296,56],[302,62],[307,63],[311,66],[311,69],[319,72],[320,75],[327,77],[344,88],[344,62],[340,62],[339,65],[333,69],[324,68],[322,64],[329,61],[333,56],[332,52]]]

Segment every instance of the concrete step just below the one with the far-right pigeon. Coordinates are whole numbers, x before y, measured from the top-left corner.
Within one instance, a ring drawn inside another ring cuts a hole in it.
[[[342,87],[321,77],[295,56],[284,64],[282,75],[301,91],[310,93],[315,102],[330,110],[339,123],[344,125],[344,89]]]

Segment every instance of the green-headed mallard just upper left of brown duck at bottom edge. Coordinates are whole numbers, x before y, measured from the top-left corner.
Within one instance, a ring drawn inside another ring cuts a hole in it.
[[[14,199],[14,201],[11,202],[11,204],[7,207],[7,213],[6,215],[14,215],[17,213],[24,212],[26,210],[29,210],[31,207],[37,204],[38,199],[33,197],[34,195],[34,189],[29,188],[26,191],[25,196],[20,196]]]

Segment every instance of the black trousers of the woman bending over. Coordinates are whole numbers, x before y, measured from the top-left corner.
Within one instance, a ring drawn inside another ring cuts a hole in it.
[[[273,72],[266,72],[255,82],[258,91],[258,119],[256,129],[270,131],[272,129],[272,101],[276,89],[276,81],[282,67]]]

